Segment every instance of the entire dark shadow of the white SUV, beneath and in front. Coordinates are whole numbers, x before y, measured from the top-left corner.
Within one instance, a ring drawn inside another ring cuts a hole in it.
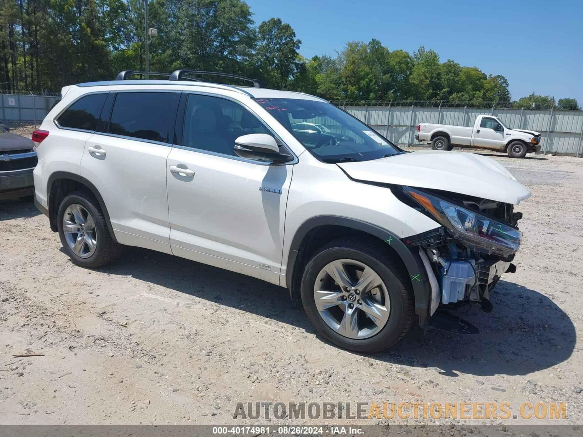
[[[102,270],[314,333],[301,302],[291,301],[285,288],[243,274],[139,248],[126,248],[119,262]],[[480,334],[461,336],[416,325],[388,351],[367,357],[396,365],[437,368],[447,376],[458,376],[456,372],[487,376],[528,375],[571,356],[575,327],[551,299],[503,280],[490,298],[494,311],[489,314],[477,305],[455,311],[455,315],[479,327]]]

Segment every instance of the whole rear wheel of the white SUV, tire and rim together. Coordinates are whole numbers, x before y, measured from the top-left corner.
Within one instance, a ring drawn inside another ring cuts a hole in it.
[[[78,266],[94,269],[120,254],[122,246],[111,238],[99,202],[86,192],[76,191],[62,200],[57,227],[65,252]]]

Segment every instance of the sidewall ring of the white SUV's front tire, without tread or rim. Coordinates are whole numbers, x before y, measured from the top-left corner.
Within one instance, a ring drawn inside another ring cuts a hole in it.
[[[354,259],[371,267],[387,286],[391,310],[387,324],[380,332],[367,339],[349,339],[329,327],[319,315],[315,305],[314,284],[318,273],[328,263],[338,259]],[[301,298],[305,312],[311,322],[326,339],[340,347],[366,352],[382,345],[390,345],[399,340],[403,333],[406,320],[404,315],[403,286],[401,281],[391,272],[389,267],[367,253],[351,248],[328,248],[319,252],[305,267],[301,282]]]

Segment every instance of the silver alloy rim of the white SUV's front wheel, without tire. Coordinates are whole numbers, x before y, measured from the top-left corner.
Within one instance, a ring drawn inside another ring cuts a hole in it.
[[[391,299],[381,277],[353,259],[332,261],[318,273],[314,302],[321,318],[350,339],[366,339],[382,330]]]

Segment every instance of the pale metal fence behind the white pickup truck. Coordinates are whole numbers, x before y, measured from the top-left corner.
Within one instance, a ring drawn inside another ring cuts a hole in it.
[[[583,156],[583,111],[550,109],[346,106],[354,117],[402,146],[424,145],[415,140],[419,123],[473,126],[479,115],[496,115],[514,129],[542,134],[543,153]]]

